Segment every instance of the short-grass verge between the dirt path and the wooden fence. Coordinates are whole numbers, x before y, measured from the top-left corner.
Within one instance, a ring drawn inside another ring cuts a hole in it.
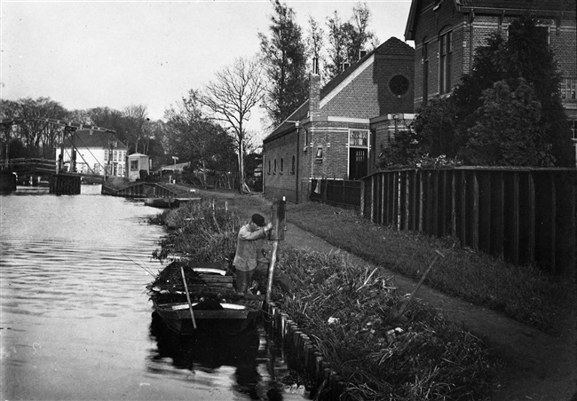
[[[226,202],[230,211],[247,218],[266,211],[270,202],[259,195],[200,193]],[[461,248],[454,238],[436,239],[418,232],[398,232],[371,224],[352,210],[307,202],[288,204],[288,224],[295,224],[364,260],[418,280],[433,249],[446,258],[425,283],[470,303],[500,311],[527,326],[549,334],[564,330],[565,316],[574,301],[574,284],[530,266],[513,266],[493,256]]]

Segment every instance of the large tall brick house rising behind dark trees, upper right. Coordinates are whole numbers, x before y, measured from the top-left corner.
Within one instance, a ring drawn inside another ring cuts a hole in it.
[[[574,0],[413,0],[405,40],[415,42],[415,109],[449,94],[470,73],[475,49],[511,20],[534,16],[563,76],[561,93],[577,152],[577,56]]]

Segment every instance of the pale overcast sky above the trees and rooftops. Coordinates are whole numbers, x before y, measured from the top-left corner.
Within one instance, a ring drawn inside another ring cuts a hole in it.
[[[332,12],[347,20],[358,2],[285,3],[306,34],[309,15],[326,28]],[[380,43],[404,40],[410,0],[366,3]],[[0,0],[0,8],[3,99],[46,97],[68,110],[144,105],[153,120],[234,59],[256,54],[273,13],[268,0]]]

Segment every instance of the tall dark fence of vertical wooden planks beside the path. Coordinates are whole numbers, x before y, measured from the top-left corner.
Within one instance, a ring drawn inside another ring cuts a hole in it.
[[[362,180],[360,215],[454,236],[510,263],[574,273],[576,185],[575,169],[380,171]]]

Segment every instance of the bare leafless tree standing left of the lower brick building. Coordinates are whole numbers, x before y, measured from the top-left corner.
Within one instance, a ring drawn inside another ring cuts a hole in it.
[[[208,83],[199,97],[212,117],[230,130],[236,140],[241,193],[249,191],[244,177],[244,148],[249,136],[245,122],[265,95],[261,75],[257,59],[236,59],[231,66],[217,72],[215,81]]]

